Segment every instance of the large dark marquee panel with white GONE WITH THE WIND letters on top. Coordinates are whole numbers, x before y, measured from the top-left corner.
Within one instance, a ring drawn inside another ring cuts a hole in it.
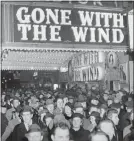
[[[115,12],[15,6],[14,41],[126,45],[125,16]]]

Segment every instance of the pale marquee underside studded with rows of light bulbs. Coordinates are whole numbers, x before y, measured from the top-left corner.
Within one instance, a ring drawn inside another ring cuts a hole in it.
[[[68,62],[83,52],[98,50],[17,50],[2,51],[2,70],[60,70],[68,68]],[[117,50],[99,50],[99,52],[117,52]],[[118,50],[118,52],[126,50]],[[62,70],[65,71],[65,70]],[[67,71],[67,70],[66,70]]]

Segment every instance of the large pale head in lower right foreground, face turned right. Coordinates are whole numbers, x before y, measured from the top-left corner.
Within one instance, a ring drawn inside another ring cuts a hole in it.
[[[114,124],[111,120],[103,120],[98,125],[98,130],[103,131],[109,136],[109,139],[112,140],[114,132]]]

